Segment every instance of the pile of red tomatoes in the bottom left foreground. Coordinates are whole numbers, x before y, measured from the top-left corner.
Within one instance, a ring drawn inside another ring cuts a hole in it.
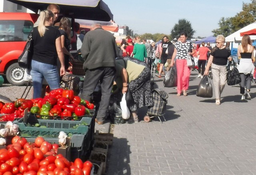
[[[42,137],[30,143],[15,136],[12,144],[0,149],[0,175],[90,175],[90,161],[76,158],[71,162],[61,154],[56,155],[58,147]]]

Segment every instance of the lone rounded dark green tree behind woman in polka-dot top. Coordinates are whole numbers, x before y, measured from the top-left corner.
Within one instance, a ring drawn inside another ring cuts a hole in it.
[[[188,39],[192,38],[195,33],[189,21],[186,19],[179,19],[178,24],[175,24],[171,29],[170,39],[177,38],[182,31],[185,31],[188,34]]]

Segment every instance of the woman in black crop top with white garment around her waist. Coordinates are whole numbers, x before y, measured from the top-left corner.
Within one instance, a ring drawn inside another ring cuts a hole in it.
[[[242,94],[241,100],[251,99],[249,94],[252,82],[252,75],[254,73],[254,65],[252,63],[254,47],[249,35],[242,37],[241,45],[238,46],[237,55],[240,57],[240,63],[237,67],[240,76],[240,93]],[[246,87],[246,90],[245,90]]]

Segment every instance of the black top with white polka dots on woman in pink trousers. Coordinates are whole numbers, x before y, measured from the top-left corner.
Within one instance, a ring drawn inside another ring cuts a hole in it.
[[[193,48],[193,45],[189,41],[186,43],[178,41],[175,44],[175,48],[177,49],[176,59],[187,59],[187,54],[190,52],[190,49]]]

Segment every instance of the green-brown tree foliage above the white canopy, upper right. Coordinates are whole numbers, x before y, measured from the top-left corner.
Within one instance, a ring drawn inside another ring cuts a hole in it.
[[[245,26],[255,22],[256,18],[256,0],[251,3],[243,3],[242,11],[231,18],[222,17],[219,21],[219,28],[212,30],[214,35],[222,34],[225,37],[238,31]]]

